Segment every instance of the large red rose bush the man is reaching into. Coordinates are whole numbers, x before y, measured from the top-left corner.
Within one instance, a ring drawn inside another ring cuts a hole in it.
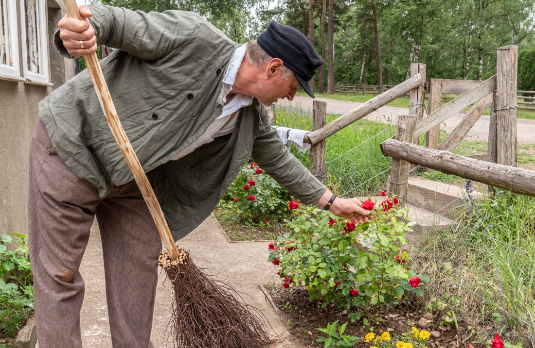
[[[285,220],[290,232],[270,244],[269,261],[280,265],[283,281],[292,280],[288,287],[303,284],[310,300],[351,310],[352,320],[362,310],[375,314],[382,304],[397,304],[410,292],[423,295],[419,284],[429,278],[407,266],[410,257],[400,250],[415,223],[405,223],[407,209],[393,197],[387,200],[392,207],[386,210],[384,204],[363,202],[372,218],[362,225],[317,208],[296,209],[295,217]]]

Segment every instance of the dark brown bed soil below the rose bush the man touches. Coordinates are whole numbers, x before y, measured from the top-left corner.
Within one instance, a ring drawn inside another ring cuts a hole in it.
[[[267,289],[273,303],[279,309],[278,313],[282,321],[286,323],[288,331],[308,348],[323,347],[323,343],[318,343],[316,340],[324,334],[315,328],[325,328],[327,323],[336,320],[340,320],[338,325],[348,322],[345,335],[360,337],[354,347],[370,348],[374,345],[373,342],[365,342],[364,339],[364,336],[370,332],[370,327],[373,327],[373,332],[376,334],[381,334],[384,331],[389,331],[391,335],[408,333],[412,326],[419,328],[416,322],[425,314],[423,306],[414,304],[385,308],[379,310],[378,320],[371,322],[370,326],[366,327],[361,321],[351,323],[345,311],[337,309],[334,305],[323,309],[319,303],[309,302],[309,295],[304,287],[291,289],[267,287]],[[466,327],[466,325],[460,324],[460,331],[467,331]],[[426,330],[440,331],[438,324],[435,325],[435,323]],[[440,337],[431,337],[426,346],[429,348],[468,347],[470,334],[460,331],[455,328],[446,332],[440,331]]]

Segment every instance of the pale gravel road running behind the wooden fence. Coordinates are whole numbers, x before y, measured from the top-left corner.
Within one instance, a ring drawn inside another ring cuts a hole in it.
[[[295,97],[294,100],[289,101],[284,99],[279,102],[282,106],[289,106],[300,108],[304,110],[312,110],[312,101],[314,99],[309,97]],[[343,115],[350,110],[353,110],[357,106],[362,105],[362,102],[343,101],[327,98],[316,98],[315,100],[321,100],[327,102],[327,113]],[[409,109],[399,108],[393,106],[383,106],[366,116],[366,120],[379,121],[389,124],[395,124],[398,119],[398,115],[407,115]],[[444,128],[450,133],[455,126],[461,122],[464,114],[457,113],[446,120],[441,128]],[[488,115],[483,115],[479,118],[479,121],[472,127],[470,132],[470,140],[488,140]],[[518,144],[535,144],[535,120],[524,120],[523,118],[517,119],[517,139]]]

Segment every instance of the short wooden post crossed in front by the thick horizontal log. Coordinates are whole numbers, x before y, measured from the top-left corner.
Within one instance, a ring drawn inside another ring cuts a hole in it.
[[[395,140],[404,143],[412,143],[414,140],[414,131],[418,115],[400,115],[398,116],[398,129],[396,130]],[[409,186],[410,163],[403,160],[392,159],[392,172],[388,183],[388,192],[405,197]]]

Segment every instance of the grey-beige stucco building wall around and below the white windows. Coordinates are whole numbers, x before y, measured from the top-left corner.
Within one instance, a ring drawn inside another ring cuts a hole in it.
[[[53,32],[63,10],[56,0],[47,3],[47,38],[49,60],[48,85],[29,80],[9,81],[0,77],[0,235],[27,234],[29,143],[39,102],[53,89],[74,76],[74,62],[55,51]],[[19,37],[21,3],[17,1]],[[22,69],[22,44],[19,41],[19,65]],[[24,74],[21,72],[21,76]],[[20,78],[24,80],[24,78]]]

